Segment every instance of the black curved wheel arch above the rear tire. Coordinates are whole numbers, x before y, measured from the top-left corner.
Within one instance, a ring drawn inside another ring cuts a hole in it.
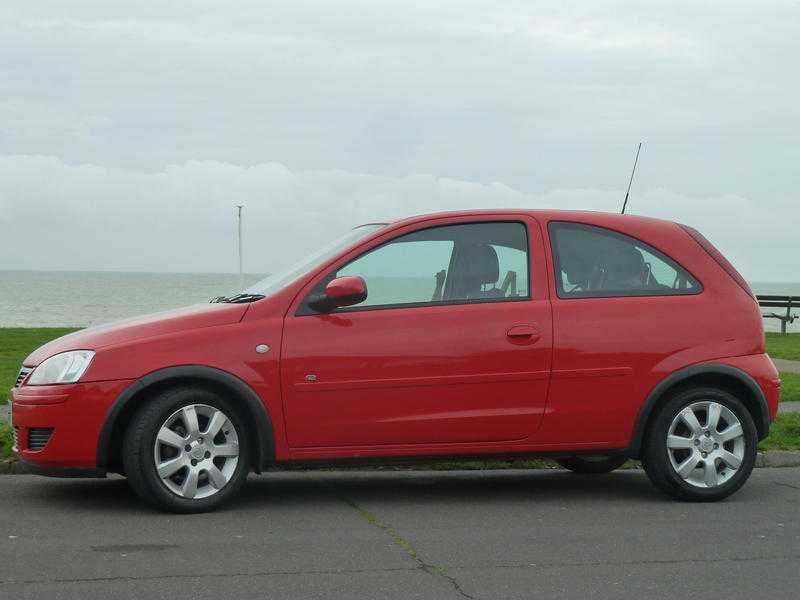
[[[647,395],[634,425],[628,454],[638,458],[642,442],[658,408],[676,392],[699,385],[719,387],[735,394],[753,417],[758,439],[769,434],[769,406],[764,392],[756,381],[736,367],[721,363],[691,365],[662,379]]]

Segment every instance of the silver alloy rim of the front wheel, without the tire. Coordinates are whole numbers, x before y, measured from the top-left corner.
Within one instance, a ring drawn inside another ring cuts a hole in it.
[[[207,498],[224,488],[236,472],[239,436],[218,408],[190,404],[161,425],[153,458],[161,482],[173,494]]]

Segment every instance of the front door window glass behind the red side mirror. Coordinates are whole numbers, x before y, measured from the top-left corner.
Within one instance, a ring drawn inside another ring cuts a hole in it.
[[[516,222],[467,223],[415,231],[387,242],[329,274],[357,275],[363,308],[509,301],[529,297],[528,238]]]

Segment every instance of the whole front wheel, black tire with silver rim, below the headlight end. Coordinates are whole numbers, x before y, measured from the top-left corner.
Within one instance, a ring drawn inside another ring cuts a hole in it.
[[[247,478],[248,439],[236,407],[214,392],[178,388],[149,401],[124,442],[128,482],[173,512],[212,510]]]

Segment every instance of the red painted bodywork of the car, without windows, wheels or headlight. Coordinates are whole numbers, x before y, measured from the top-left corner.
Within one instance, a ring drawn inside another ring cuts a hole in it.
[[[491,220],[528,226],[530,299],[297,314],[326,273],[369,248],[423,227]],[[686,268],[702,293],[559,298],[551,221],[640,239]],[[506,337],[515,325],[534,326],[539,339],[515,345]],[[266,353],[256,352],[261,344],[269,346]],[[622,451],[634,438],[648,395],[692,365],[725,364],[747,373],[763,392],[769,419],[779,394],[755,300],[678,225],[604,213],[489,210],[412,217],[354,243],[262,300],[83,330],[45,344],[24,364],[34,367],[72,349],[96,351],[80,383],[13,391],[20,426],[56,428],[41,453],[23,452],[29,462],[95,466],[97,432],[112,418],[115,400],[150,373],[186,365],[224,371],[257,394],[274,427],[279,464]],[[81,428],[91,433],[64,445],[64,436],[77,436]]]

